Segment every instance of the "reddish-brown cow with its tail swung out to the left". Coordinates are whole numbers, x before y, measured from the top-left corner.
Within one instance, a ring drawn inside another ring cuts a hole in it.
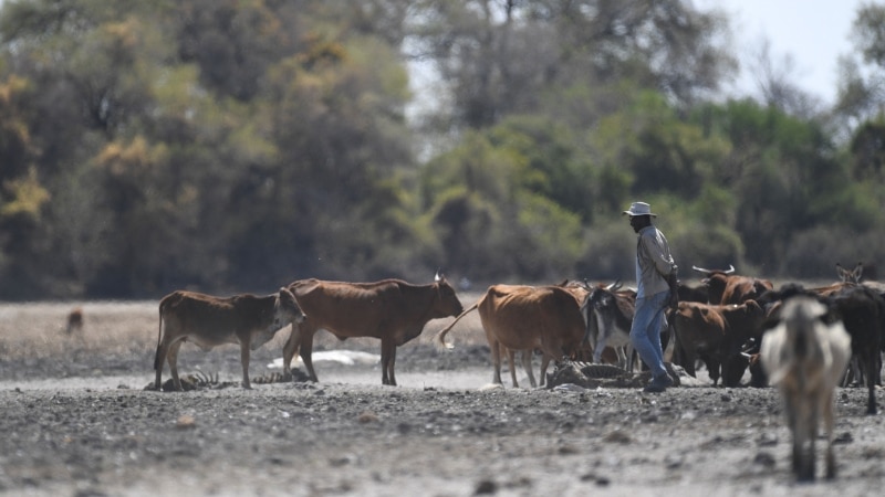
[[[540,349],[545,359],[559,360],[579,349],[586,334],[581,304],[572,290],[561,286],[492,285],[476,304],[436,335],[436,343],[451,348],[446,343],[446,335],[473,309],[479,309],[489,341],[494,367],[492,381],[497,384],[502,384],[501,347]],[[518,387],[516,378],[512,379],[513,387]]]

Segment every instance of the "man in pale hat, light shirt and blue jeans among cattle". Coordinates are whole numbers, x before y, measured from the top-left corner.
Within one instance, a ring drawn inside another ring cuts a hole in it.
[[[660,347],[660,330],[664,326],[664,309],[679,304],[676,272],[667,239],[654,224],[652,207],[645,202],[633,202],[629,225],[636,232],[636,313],[629,330],[633,348],[652,370],[652,381],[646,392],[663,392],[673,385],[673,379],[664,368],[664,350]]]

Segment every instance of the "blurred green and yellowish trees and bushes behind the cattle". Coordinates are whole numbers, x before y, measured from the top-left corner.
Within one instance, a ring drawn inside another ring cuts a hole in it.
[[[881,15],[815,114],[710,101],[680,0],[8,0],[0,298],[629,281],[633,200],[684,268],[829,277],[885,226]]]

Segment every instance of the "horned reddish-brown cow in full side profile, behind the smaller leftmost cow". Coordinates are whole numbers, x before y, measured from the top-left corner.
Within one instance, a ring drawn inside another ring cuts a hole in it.
[[[457,316],[464,309],[455,289],[437,275],[430,285],[413,285],[399,279],[374,283],[324,282],[302,279],[289,289],[308,318],[283,347],[283,372],[289,373],[296,352],[311,380],[319,381],[313,369],[313,336],[324,329],[340,340],[356,337],[381,339],[383,384],[396,384],[396,348],[417,337],[431,319]]]

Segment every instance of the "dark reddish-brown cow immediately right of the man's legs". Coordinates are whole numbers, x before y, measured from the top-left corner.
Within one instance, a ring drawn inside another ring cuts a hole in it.
[[[711,305],[680,302],[670,315],[676,336],[674,362],[695,376],[695,361],[707,363],[710,379],[719,381],[719,366],[729,371],[733,361],[740,361],[741,347],[749,339],[760,339],[766,311],[756,300],[741,305]],[[739,381],[739,379],[738,379]],[[722,378],[726,387],[737,387],[729,376]]]

